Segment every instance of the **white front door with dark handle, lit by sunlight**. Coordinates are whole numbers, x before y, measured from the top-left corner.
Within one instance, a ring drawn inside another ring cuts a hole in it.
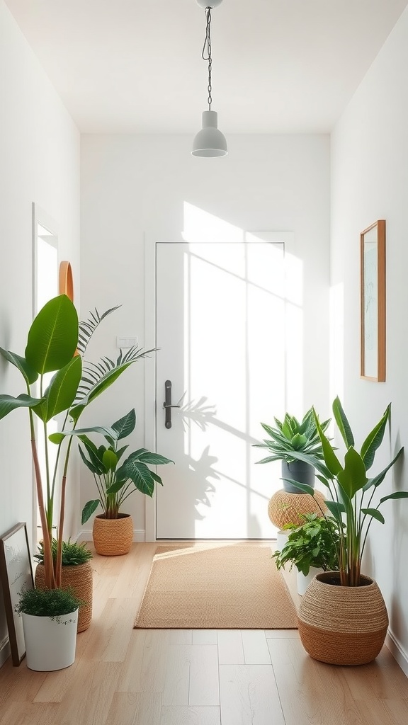
[[[285,412],[283,244],[157,245],[158,539],[270,539],[280,465],[253,443]],[[171,428],[165,384],[171,381]]]

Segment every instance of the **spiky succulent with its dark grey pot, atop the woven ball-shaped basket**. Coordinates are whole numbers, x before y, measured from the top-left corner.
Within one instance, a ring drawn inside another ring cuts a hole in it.
[[[319,460],[323,457],[313,409],[308,410],[301,422],[289,413],[286,413],[283,422],[278,418],[274,418],[274,421],[274,428],[266,423],[261,423],[262,428],[269,435],[269,439],[264,439],[263,443],[254,445],[257,448],[266,448],[272,455],[258,460],[257,463],[272,463],[274,460],[281,460],[283,487],[288,493],[298,494],[300,490],[293,486],[291,480],[300,481],[313,487],[314,466],[306,460],[299,460],[293,456],[293,452],[308,454]],[[326,430],[329,423],[330,420],[321,424],[323,431]]]

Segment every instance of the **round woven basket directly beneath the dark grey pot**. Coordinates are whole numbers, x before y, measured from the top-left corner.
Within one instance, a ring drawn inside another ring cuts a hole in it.
[[[320,507],[320,508],[319,508]],[[269,501],[268,514],[272,523],[282,529],[286,523],[304,523],[301,519],[303,513],[317,513],[322,515],[326,510],[325,497],[319,491],[310,494],[290,494],[287,491],[277,491]]]

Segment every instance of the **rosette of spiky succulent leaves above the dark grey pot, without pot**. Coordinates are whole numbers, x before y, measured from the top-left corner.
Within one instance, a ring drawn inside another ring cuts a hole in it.
[[[301,422],[289,413],[286,413],[283,422],[277,418],[274,418],[274,421],[276,424],[274,428],[266,423],[261,423],[262,428],[270,437],[263,443],[254,445],[257,448],[267,448],[272,455],[258,460],[257,463],[271,463],[274,460],[285,460],[286,463],[292,463],[295,460],[293,452],[307,453],[322,459],[322,444],[312,408],[303,416]],[[326,430],[329,423],[330,421],[325,421],[321,424],[323,431]]]

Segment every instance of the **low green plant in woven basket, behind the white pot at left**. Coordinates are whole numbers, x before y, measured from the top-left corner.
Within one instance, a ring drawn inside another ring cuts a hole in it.
[[[52,539],[52,558],[57,558],[57,539]],[[37,553],[34,555],[37,562],[34,581],[38,589],[44,589],[44,542],[38,544]],[[73,594],[81,600],[82,605],[78,611],[77,632],[88,629],[92,619],[92,589],[93,571],[91,566],[92,553],[85,542],[77,543],[68,541],[62,542],[62,576],[61,586],[64,589],[71,589]]]

